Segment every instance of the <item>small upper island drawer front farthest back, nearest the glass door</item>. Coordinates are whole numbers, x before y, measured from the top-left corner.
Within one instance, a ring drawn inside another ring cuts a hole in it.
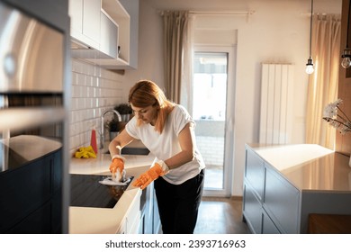
[[[245,178],[251,184],[257,197],[262,201],[265,184],[264,161],[251,149],[247,149]]]

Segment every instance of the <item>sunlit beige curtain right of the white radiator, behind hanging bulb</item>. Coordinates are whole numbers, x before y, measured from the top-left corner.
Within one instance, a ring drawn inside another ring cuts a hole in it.
[[[336,130],[322,120],[324,107],[338,97],[340,66],[340,17],[313,16],[312,58],[315,67],[310,76],[306,112],[306,143],[335,148]]]

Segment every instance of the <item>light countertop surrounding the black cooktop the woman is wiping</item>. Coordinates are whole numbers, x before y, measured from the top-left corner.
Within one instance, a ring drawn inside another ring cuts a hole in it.
[[[110,175],[110,154],[98,153],[96,158],[71,159],[70,174]],[[126,175],[136,179],[152,164],[152,155],[124,155]],[[141,190],[131,185],[121,195],[112,209],[92,207],[69,207],[69,233],[113,234],[123,225],[123,219],[130,211],[132,202],[139,200]]]

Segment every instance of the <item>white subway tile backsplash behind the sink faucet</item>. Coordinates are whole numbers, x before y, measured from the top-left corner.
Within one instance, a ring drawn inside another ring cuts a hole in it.
[[[93,127],[96,130],[97,141],[100,141],[98,132],[101,127],[101,114],[127,100],[122,96],[122,88],[122,75],[72,59],[72,97],[69,115],[71,154],[79,147],[90,145]],[[106,115],[106,120],[108,119],[109,116]]]

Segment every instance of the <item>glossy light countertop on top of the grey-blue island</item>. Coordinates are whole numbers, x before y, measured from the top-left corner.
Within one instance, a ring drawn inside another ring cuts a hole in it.
[[[351,193],[349,157],[315,144],[247,144],[299,190]]]

